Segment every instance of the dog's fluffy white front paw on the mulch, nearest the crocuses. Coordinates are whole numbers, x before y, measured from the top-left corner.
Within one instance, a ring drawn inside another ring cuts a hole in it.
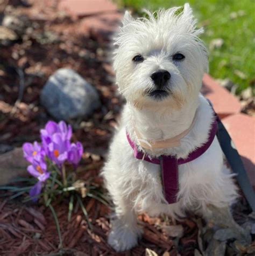
[[[142,233],[142,230],[138,227],[130,229],[125,226],[115,226],[109,234],[108,244],[114,248],[116,252],[130,250],[137,245],[138,238]]]

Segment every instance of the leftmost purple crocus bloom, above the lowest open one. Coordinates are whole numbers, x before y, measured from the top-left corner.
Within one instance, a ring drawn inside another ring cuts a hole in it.
[[[26,160],[30,163],[33,162],[33,160],[40,160],[41,158],[44,158],[45,156],[45,151],[41,147],[41,145],[35,141],[33,144],[26,142],[23,144],[23,152],[24,152],[24,157]]]

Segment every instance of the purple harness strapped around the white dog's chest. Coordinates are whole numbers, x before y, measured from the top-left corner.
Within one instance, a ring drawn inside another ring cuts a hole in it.
[[[217,116],[214,122],[211,124],[211,129],[209,132],[209,137],[207,142],[205,142],[200,148],[197,148],[192,153],[188,155],[186,159],[179,158],[177,159],[174,156],[165,156],[162,155],[159,158],[151,158],[147,155],[144,157],[142,151],[138,151],[136,144],[130,139],[128,133],[126,137],[128,138],[129,144],[134,151],[134,157],[139,160],[144,160],[153,164],[160,164],[161,168],[161,180],[164,190],[164,195],[169,204],[177,202],[177,194],[179,191],[179,181],[178,181],[178,165],[188,163],[195,160],[197,157],[201,156],[207,149],[210,147],[214,137],[217,133]]]

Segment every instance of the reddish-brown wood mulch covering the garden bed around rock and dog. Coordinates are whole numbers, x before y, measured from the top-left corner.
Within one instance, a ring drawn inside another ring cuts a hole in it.
[[[81,141],[86,151],[79,173],[83,179],[91,178],[102,186],[98,171],[123,104],[116,95],[108,60],[109,41],[100,34],[81,29],[83,18],[72,19],[58,12],[58,1],[26,1],[31,3],[29,7],[24,2],[5,0],[0,4],[0,18],[5,10],[5,15],[10,13],[23,20],[25,27],[17,40],[0,45],[0,144],[20,147],[26,141],[39,140],[39,130],[52,119],[39,103],[41,89],[58,68],[73,68],[96,87],[102,101],[103,107],[93,116],[72,121],[74,139]],[[74,207],[68,222],[67,199],[53,204],[63,240],[63,247],[59,248],[58,233],[48,208],[23,204],[20,198],[8,200],[1,192],[0,255],[128,256],[144,255],[149,248],[158,255],[185,256],[194,255],[194,250],[199,249],[199,229],[194,220],[183,220],[181,238],[173,238],[162,228],[171,225],[171,220],[143,215],[139,216],[144,226],[139,245],[131,251],[116,253],[107,244],[109,207],[89,198],[83,203],[93,231],[78,207]]]

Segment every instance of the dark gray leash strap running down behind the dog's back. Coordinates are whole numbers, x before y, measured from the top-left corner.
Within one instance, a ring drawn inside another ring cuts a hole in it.
[[[239,183],[240,188],[242,189],[247,202],[251,206],[253,212],[255,212],[255,193],[247,176],[247,173],[244,168],[244,164],[241,160],[240,155],[235,147],[235,144],[231,140],[229,133],[224,127],[221,120],[218,118],[218,141],[221,145],[222,151],[228,160],[232,171],[237,174],[236,179]]]

